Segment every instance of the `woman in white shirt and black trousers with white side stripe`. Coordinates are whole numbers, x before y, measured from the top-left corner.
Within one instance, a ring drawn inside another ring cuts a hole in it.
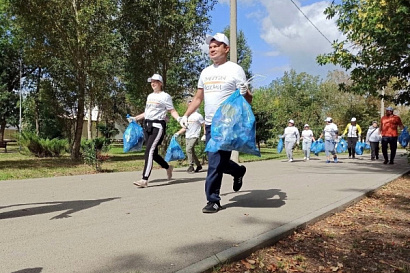
[[[151,175],[153,161],[157,162],[162,168],[167,170],[167,178],[172,178],[173,167],[158,154],[158,146],[161,145],[166,132],[165,119],[169,112],[176,120],[180,117],[174,109],[172,98],[168,93],[162,91],[162,77],[159,74],[154,74],[148,78],[151,83],[153,92],[148,95],[145,104],[144,113],[134,117],[135,120],[144,120],[144,140],[145,140],[145,164],[142,172],[142,179],[134,182],[134,185],[140,188],[148,186],[148,178]]]

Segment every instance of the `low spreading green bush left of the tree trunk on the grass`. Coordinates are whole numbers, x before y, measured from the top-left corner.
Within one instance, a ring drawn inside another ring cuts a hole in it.
[[[37,157],[59,157],[67,151],[68,141],[66,139],[44,139],[35,133],[25,131],[21,133],[20,145]]]

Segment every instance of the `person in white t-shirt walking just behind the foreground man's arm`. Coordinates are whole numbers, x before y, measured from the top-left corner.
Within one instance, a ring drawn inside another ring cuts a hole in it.
[[[188,106],[189,104],[191,104],[191,102],[192,100],[188,102]],[[199,162],[199,159],[195,153],[195,145],[198,143],[202,127],[204,128],[205,135],[205,126],[203,126],[204,122],[204,117],[198,111],[195,111],[188,117],[188,127],[182,128],[181,130],[175,133],[176,137],[185,133],[186,154],[189,163],[189,167],[187,170],[188,173],[197,173],[200,170],[202,170],[201,162]],[[194,164],[196,165],[196,168],[194,168]]]

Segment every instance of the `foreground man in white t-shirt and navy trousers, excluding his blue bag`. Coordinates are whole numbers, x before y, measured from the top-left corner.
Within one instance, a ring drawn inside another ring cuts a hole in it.
[[[245,72],[236,63],[228,61],[229,40],[223,33],[217,33],[206,38],[209,45],[209,57],[213,64],[205,68],[198,81],[198,90],[184,116],[180,119],[182,127],[188,124],[188,116],[199,108],[202,101],[205,103],[205,130],[206,142],[211,138],[212,118],[223,103],[237,88],[249,102],[252,98]],[[245,166],[239,166],[230,160],[231,151],[208,152],[208,173],[205,182],[207,205],[203,213],[214,213],[222,209],[220,204],[220,189],[224,173],[234,178],[233,190],[239,191],[242,187]]]

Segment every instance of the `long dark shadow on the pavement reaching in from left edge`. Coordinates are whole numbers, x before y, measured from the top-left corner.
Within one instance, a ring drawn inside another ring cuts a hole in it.
[[[71,217],[71,214],[89,209],[100,205],[101,203],[119,199],[119,197],[96,199],[96,200],[77,200],[77,201],[56,201],[56,202],[41,202],[41,203],[27,203],[27,204],[16,204],[10,206],[0,207],[0,209],[18,207],[18,206],[30,206],[30,205],[44,205],[44,206],[34,206],[25,209],[16,209],[13,211],[7,211],[0,213],[0,219],[17,218],[24,216],[32,216],[38,214],[45,214],[57,211],[65,211],[57,216],[54,216],[50,220],[63,219]]]

